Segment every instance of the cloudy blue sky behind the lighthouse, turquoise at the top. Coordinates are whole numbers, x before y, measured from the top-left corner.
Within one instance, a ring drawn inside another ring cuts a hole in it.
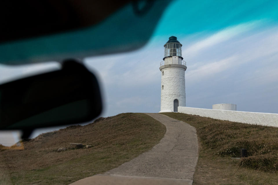
[[[186,106],[233,103],[238,111],[278,113],[277,9],[277,1],[173,1],[145,47],[85,58],[101,84],[101,116],[160,111],[159,67],[172,35],[183,45]],[[0,83],[58,68],[54,62],[0,66]],[[0,143],[1,137],[7,138],[0,132]]]

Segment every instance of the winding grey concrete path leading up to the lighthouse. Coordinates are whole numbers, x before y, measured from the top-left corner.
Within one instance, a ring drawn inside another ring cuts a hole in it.
[[[71,185],[192,184],[198,159],[196,129],[163,114],[146,113],[166,126],[166,133],[151,150],[121,166]]]

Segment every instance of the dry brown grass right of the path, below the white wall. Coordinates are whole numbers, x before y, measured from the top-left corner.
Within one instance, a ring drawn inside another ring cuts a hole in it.
[[[163,113],[197,130],[199,159],[193,184],[278,184],[278,128]],[[239,160],[239,148],[249,157]]]

